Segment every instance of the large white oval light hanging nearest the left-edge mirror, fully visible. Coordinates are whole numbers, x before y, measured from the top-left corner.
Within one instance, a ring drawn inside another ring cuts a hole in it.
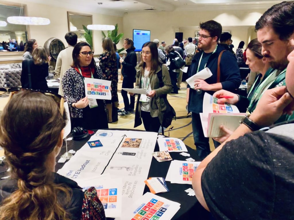
[[[24,25],[47,25],[47,24],[50,24],[50,20],[48,18],[26,17],[26,16],[8,17],[7,21],[11,24],[24,24]]]

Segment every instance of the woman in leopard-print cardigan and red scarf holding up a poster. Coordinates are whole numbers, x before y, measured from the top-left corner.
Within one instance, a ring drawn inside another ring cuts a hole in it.
[[[105,101],[88,99],[84,78],[104,79],[102,70],[96,66],[94,51],[86,42],[79,42],[73,50],[73,65],[66,70],[62,80],[64,99],[71,107],[72,127],[85,129],[108,128]]]

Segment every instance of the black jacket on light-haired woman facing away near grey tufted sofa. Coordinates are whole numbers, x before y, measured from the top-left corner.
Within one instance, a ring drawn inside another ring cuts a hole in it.
[[[31,87],[29,86],[29,65],[31,66]],[[35,65],[33,59],[22,61],[21,87],[34,90],[48,90],[46,77],[49,75],[48,63]]]

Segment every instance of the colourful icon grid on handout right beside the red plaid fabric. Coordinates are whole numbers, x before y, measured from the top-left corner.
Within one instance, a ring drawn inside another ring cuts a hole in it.
[[[104,209],[115,209],[117,202],[117,188],[115,189],[96,189]]]

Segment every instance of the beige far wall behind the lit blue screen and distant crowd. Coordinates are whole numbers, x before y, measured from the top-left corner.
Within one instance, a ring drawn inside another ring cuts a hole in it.
[[[123,16],[124,33],[132,37],[133,28],[151,30],[151,41],[158,38],[169,45],[175,38],[175,32],[183,32],[183,38],[194,37],[200,22],[215,20],[221,23],[223,30],[231,31],[233,44],[238,47],[240,41],[248,44],[249,36],[254,36],[254,26],[264,11],[175,11],[153,13],[128,13]],[[252,29],[253,28],[253,29]],[[248,35],[248,32],[250,33]]]

